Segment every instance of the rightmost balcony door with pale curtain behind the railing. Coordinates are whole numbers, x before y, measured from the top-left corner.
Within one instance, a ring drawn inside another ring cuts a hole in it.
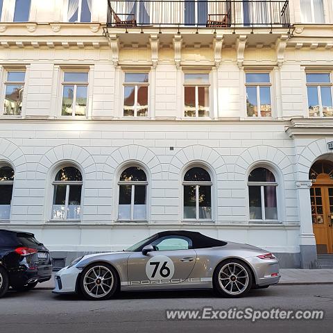
[[[266,0],[243,0],[242,4],[244,26],[267,26],[270,23],[273,12],[268,12]]]

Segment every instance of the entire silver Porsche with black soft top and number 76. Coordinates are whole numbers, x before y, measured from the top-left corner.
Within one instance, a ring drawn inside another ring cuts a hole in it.
[[[158,232],[122,252],[79,257],[58,271],[53,293],[106,300],[118,290],[213,288],[235,298],[279,280],[272,253],[182,230]]]

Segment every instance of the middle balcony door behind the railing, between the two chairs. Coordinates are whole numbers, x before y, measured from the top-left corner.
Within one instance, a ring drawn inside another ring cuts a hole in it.
[[[186,26],[205,26],[207,17],[207,0],[185,0],[184,22]]]

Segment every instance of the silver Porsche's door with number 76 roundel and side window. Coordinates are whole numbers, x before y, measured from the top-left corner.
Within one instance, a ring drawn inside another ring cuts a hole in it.
[[[189,278],[196,263],[191,239],[166,236],[151,243],[152,251],[134,252],[128,257],[128,285],[143,287],[181,283]]]

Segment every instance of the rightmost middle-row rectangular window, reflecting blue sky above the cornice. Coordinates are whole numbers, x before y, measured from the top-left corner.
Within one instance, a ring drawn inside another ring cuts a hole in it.
[[[330,73],[307,73],[307,103],[310,117],[332,117]]]

